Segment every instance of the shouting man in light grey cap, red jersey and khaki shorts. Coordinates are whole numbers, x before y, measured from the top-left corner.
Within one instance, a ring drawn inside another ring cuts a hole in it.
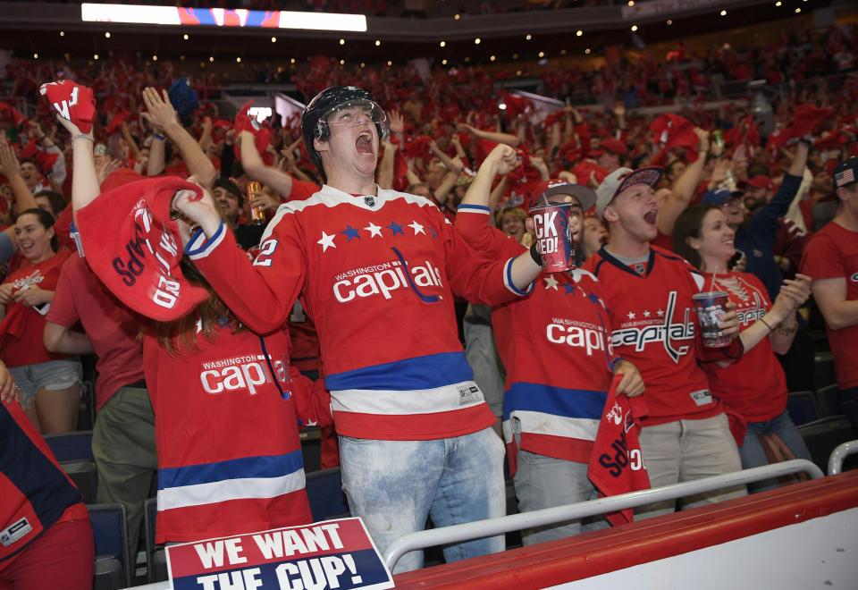
[[[613,345],[619,357],[641,372],[649,415],[640,419],[644,465],[652,487],[715,476],[742,468],[720,401],[713,399],[698,356],[729,360],[741,344],[703,350],[695,340],[692,302],[704,279],[681,257],[652,246],[659,206],[654,187],[661,168],[618,168],[596,190],[596,213],[608,223],[610,240],[585,265],[603,285]],[[723,332],[737,334],[736,313],[726,314]],[[743,486],[694,496],[683,508],[744,495]],[[674,510],[660,502],[638,510],[642,517]]]

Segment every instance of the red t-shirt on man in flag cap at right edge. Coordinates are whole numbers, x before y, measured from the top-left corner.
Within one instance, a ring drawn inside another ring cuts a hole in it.
[[[839,279],[846,281],[846,300],[858,299],[858,232],[851,232],[835,222],[829,222],[813,234],[804,246],[802,273],[814,281]],[[840,389],[858,385],[858,325],[832,330],[828,325],[831,352],[837,369]]]

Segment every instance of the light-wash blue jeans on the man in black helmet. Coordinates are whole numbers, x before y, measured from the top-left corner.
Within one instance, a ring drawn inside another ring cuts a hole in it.
[[[492,428],[434,441],[340,437],[342,488],[380,552],[426,518],[449,527],[506,513],[504,446]],[[502,552],[503,536],[445,547],[448,562]],[[402,556],[394,573],[423,567],[423,552]]]

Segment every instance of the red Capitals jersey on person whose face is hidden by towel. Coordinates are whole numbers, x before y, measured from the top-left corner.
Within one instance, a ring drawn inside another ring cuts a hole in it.
[[[298,416],[325,420],[311,383],[289,366],[288,334],[263,339],[224,325],[214,342],[198,334],[196,343],[199,350],[171,355],[154,336],[144,341],[158,452],[156,542],[311,522]]]

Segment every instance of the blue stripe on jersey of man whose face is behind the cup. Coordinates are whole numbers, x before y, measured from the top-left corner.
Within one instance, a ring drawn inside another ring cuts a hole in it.
[[[526,410],[553,416],[599,420],[607,398],[607,392],[516,383],[503,395],[503,419],[508,420],[510,412],[515,410]]]

